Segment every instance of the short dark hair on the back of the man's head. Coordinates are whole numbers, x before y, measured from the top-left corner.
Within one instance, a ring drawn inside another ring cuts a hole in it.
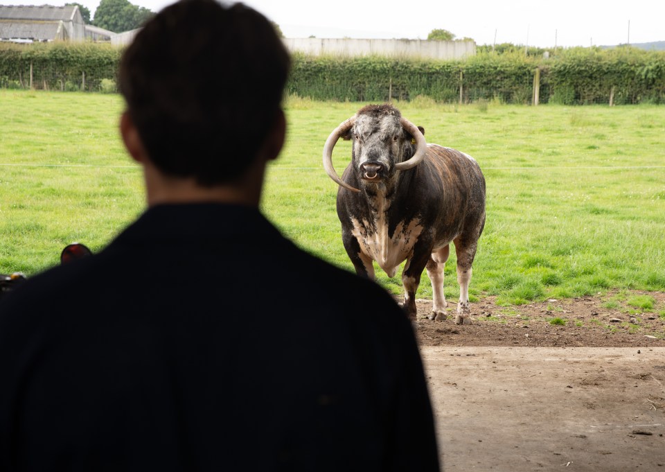
[[[281,107],[289,55],[274,26],[236,3],[181,0],[127,48],[120,89],[150,161],[202,186],[251,165]]]

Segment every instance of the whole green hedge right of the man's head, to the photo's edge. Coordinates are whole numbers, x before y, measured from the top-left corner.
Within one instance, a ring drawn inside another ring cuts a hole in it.
[[[423,95],[448,103],[531,103],[536,69],[541,103],[665,103],[665,53],[634,48],[567,49],[551,58],[480,53],[453,61],[295,55],[288,91],[321,100]]]

